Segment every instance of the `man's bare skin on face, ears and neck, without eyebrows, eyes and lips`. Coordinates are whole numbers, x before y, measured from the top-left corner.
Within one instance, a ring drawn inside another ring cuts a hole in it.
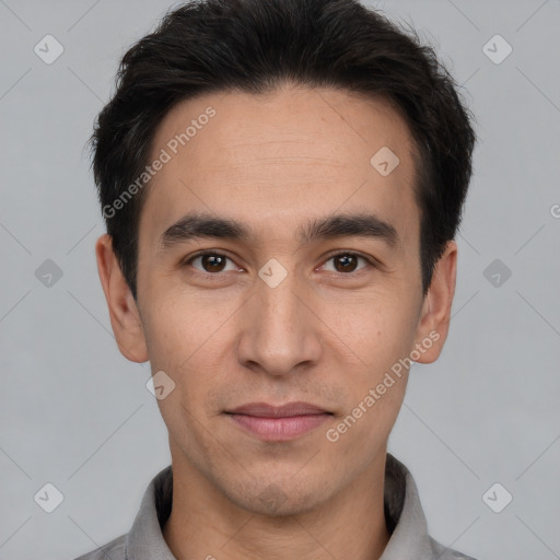
[[[96,244],[120,351],[150,360],[153,373],[163,370],[176,384],[158,401],[174,475],[164,538],[179,560],[378,558],[389,538],[386,445],[407,375],[337,442],[326,431],[434,331],[439,340],[416,361],[438,359],[456,244],[448,243],[422,296],[412,140],[387,103],[288,85],[258,96],[208,94],[166,115],[153,156],[209,105],[215,117],[150,184],[138,302],[110,237]],[[382,147],[400,160],[388,176],[370,164]],[[162,233],[192,210],[238,220],[254,237],[199,238],[162,250]],[[311,219],[364,210],[389,222],[400,243],[346,236],[302,244],[295,235]],[[231,260],[220,272],[201,259],[182,265],[199,249]],[[381,266],[359,259],[354,271],[339,271],[330,256],[347,249]],[[287,271],[276,288],[258,276],[271,258]],[[252,401],[293,400],[334,416],[291,441],[264,442],[224,415]]]

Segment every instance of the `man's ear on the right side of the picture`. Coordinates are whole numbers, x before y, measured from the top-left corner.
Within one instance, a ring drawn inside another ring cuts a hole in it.
[[[424,296],[416,334],[415,362],[438,360],[447,338],[451,306],[457,277],[457,244],[450,241],[434,267],[430,289]]]

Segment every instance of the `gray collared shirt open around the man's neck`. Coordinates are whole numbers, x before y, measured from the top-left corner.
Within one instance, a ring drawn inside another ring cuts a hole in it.
[[[172,491],[170,465],[148,486],[130,532],[75,560],[176,560],[162,535]],[[389,453],[384,505],[390,538],[380,560],[475,560],[430,537],[412,475]]]

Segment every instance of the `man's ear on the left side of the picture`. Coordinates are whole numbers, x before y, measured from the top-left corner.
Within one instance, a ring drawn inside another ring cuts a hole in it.
[[[145,362],[145,345],[142,320],[132,292],[120,270],[113,252],[110,235],[104,234],[95,244],[97,270],[109,308],[110,326],[120,353],[132,362]]]

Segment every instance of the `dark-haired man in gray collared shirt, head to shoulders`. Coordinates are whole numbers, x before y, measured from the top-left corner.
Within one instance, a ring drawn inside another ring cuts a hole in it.
[[[93,136],[122,354],[172,466],[84,559],[457,559],[387,454],[438,359],[475,133],[355,0],[201,0],[124,57]]]

